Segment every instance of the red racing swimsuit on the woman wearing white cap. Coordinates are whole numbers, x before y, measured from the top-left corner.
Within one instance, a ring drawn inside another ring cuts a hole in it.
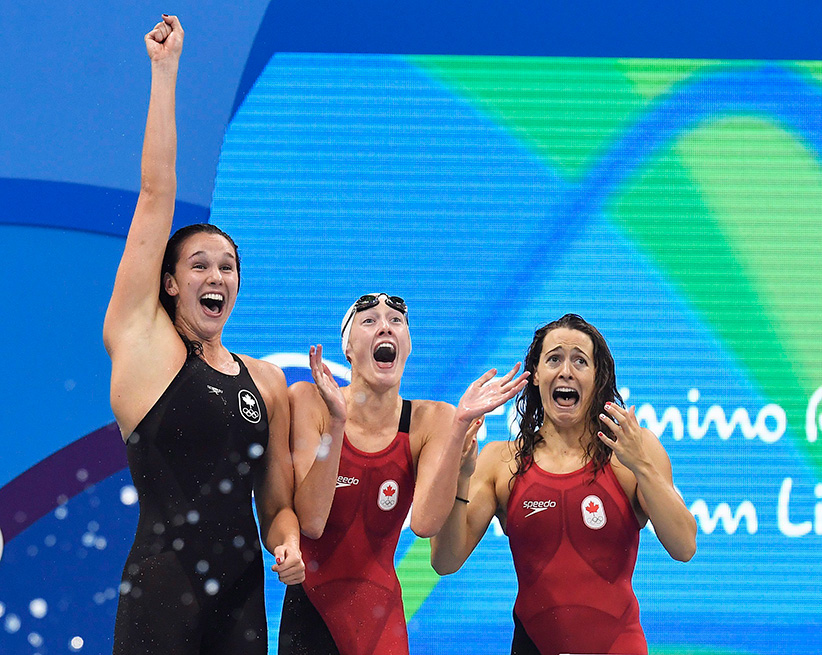
[[[407,655],[408,633],[394,553],[414,493],[403,401],[396,438],[377,453],[343,437],[337,488],[325,531],[303,538],[303,588],[340,655]]]

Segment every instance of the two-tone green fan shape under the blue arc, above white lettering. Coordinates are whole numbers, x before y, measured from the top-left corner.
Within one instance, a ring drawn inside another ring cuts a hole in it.
[[[738,357],[812,461],[805,407],[822,385],[819,166],[766,121],[705,123],[616,194],[614,221],[640,244]],[[818,442],[819,443],[819,442]]]

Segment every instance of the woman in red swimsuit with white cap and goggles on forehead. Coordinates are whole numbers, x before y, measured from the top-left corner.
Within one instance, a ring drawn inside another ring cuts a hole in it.
[[[362,296],[342,323],[351,384],[340,389],[310,349],[316,384],[289,389],[294,507],[305,582],[288,588],[281,655],[405,655],[408,636],[394,552],[411,529],[430,537],[451,511],[463,443],[477,419],[526,384],[519,365],[474,382],[459,406],[400,397],[411,352],[397,296]]]

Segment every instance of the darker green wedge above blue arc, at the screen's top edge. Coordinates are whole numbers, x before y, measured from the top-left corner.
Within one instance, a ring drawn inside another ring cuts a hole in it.
[[[571,179],[647,104],[616,59],[410,57]]]

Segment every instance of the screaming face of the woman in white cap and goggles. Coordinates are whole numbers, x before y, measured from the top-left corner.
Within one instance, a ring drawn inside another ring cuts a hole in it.
[[[380,386],[395,386],[411,352],[411,336],[406,315],[385,300],[382,296],[374,307],[353,315],[345,356],[354,376]]]

